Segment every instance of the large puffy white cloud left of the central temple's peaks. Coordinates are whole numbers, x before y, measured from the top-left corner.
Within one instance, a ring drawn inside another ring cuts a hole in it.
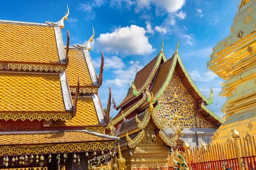
[[[146,30],[137,25],[119,27],[112,33],[104,33],[95,40],[94,46],[116,55],[145,55],[155,49],[145,36]]]

